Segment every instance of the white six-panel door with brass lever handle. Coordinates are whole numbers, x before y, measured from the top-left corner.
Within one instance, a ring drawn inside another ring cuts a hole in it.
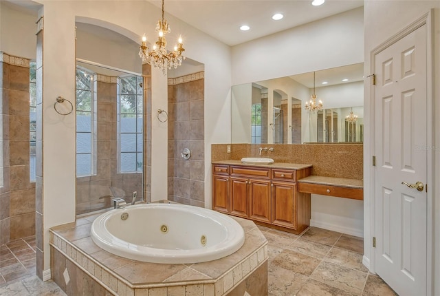
[[[426,295],[426,25],[375,55],[375,266],[399,295]]]

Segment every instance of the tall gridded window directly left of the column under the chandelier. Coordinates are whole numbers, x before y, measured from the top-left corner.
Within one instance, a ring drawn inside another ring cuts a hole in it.
[[[118,90],[119,171],[142,173],[142,77],[118,78]]]

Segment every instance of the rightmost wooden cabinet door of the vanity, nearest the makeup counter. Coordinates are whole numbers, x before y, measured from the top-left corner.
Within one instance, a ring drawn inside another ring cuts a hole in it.
[[[273,182],[272,224],[296,229],[296,183]]]

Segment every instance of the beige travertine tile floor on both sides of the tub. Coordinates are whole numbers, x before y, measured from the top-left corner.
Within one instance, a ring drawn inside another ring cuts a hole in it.
[[[269,296],[396,295],[362,265],[360,237],[315,227],[303,235],[259,228],[269,241]],[[34,237],[0,247],[1,296],[65,295],[36,277],[34,249]]]

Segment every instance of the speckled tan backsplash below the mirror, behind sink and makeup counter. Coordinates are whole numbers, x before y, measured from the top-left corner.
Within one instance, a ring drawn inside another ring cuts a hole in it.
[[[226,153],[231,145],[231,153]],[[261,157],[275,162],[309,163],[311,175],[362,180],[364,170],[363,144],[212,144],[211,161],[241,160],[258,157],[259,147],[273,147]]]

